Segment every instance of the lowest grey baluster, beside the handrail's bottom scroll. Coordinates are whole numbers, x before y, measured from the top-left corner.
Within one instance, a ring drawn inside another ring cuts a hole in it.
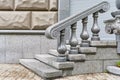
[[[65,45],[65,29],[60,31],[60,41],[58,43],[57,51],[59,52],[57,61],[65,62],[67,60],[65,56],[65,52],[67,51],[67,48]]]

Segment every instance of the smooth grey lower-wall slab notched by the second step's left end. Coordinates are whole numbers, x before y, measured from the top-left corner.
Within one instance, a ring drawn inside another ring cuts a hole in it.
[[[35,54],[40,54],[40,35],[23,35],[23,58],[34,58]]]

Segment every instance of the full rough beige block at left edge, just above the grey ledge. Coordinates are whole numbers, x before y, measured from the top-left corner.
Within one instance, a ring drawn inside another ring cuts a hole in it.
[[[0,12],[0,29],[26,30],[30,29],[30,12]]]

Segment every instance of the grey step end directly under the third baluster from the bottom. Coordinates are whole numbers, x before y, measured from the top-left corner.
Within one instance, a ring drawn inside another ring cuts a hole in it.
[[[83,54],[95,54],[97,52],[97,48],[96,47],[80,47],[79,52]]]

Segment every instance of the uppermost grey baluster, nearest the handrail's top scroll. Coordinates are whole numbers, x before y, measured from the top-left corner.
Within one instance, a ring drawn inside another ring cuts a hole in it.
[[[91,40],[98,41],[98,40],[100,40],[100,37],[99,37],[100,28],[98,26],[98,12],[95,12],[93,14],[93,20],[94,20],[93,27],[91,29],[93,34],[92,34]]]

